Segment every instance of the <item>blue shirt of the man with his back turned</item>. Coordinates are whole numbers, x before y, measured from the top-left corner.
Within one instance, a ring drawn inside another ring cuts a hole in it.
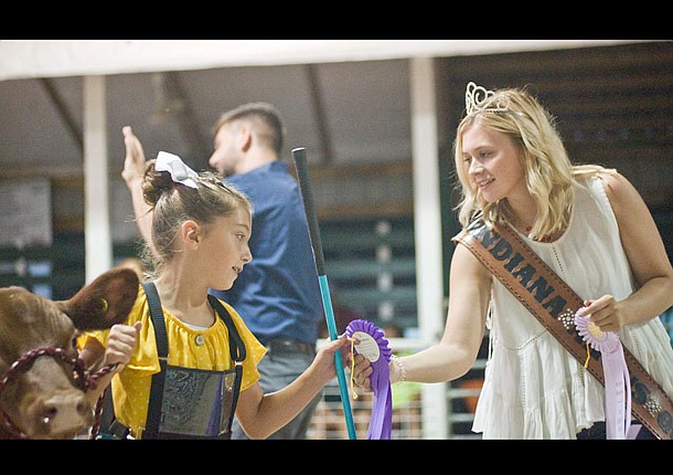
[[[229,291],[211,293],[231,304],[261,342],[314,344],[324,312],[299,183],[280,160],[226,182],[253,202],[253,261]]]

